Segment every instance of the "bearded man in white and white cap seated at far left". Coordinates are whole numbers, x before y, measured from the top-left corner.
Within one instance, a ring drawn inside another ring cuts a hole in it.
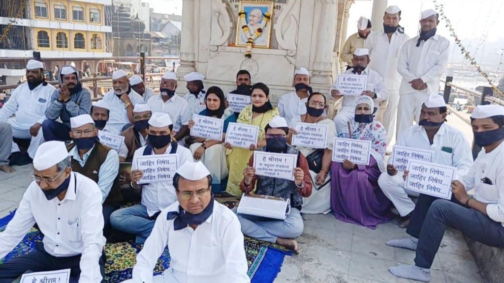
[[[37,60],[29,60],[26,64],[26,83],[18,86],[11,94],[11,98],[0,109],[0,131],[11,132],[4,140],[0,150],[0,161],[9,158],[9,165],[26,165],[32,162],[38,146],[44,142],[42,122],[54,87],[44,81],[44,64]],[[30,139],[28,152],[21,152],[12,138]],[[11,156],[7,150],[11,144]],[[14,172],[7,164],[0,165],[4,172]]]

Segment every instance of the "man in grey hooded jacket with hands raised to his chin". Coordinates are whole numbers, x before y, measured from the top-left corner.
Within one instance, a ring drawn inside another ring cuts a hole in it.
[[[42,123],[42,132],[47,141],[65,142],[70,140],[70,119],[90,113],[91,93],[82,87],[79,72],[72,66],[61,68],[58,81],[59,89],[52,94],[49,107],[45,110],[47,119]]]

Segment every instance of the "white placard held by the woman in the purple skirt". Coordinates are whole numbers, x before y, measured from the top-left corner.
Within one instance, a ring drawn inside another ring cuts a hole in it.
[[[354,164],[369,165],[371,150],[370,140],[335,137],[333,161],[343,162],[348,159]]]

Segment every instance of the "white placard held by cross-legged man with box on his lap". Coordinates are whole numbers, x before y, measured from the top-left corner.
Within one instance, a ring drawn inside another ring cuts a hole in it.
[[[254,152],[256,175],[294,181],[297,154]]]

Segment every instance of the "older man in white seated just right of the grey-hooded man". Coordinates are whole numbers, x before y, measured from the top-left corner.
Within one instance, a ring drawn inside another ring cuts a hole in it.
[[[131,88],[128,74],[121,69],[112,74],[112,87],[103,96],[110,108],[107,124],[121,132],[133,123],[133,107],[144,99]]]

